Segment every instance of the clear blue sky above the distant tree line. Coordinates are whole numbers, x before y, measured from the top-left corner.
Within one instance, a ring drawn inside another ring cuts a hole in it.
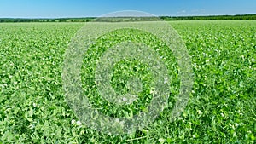
[[[101,16],[139,10],[154,15],[256,14],[256,0],[0,0],[0,17]]]

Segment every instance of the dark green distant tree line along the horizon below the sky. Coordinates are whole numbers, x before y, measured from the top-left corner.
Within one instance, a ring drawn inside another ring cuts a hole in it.
[[[162,20],[256,20],[256,14],[237,15],[209,15],[209,16],[160,16]],[[23,19],[23,18],[0,18],[0,22],[126,22],[126,21],[155,21],[156,17],[88,17],[88,18],[58,18],[58,19]]]

